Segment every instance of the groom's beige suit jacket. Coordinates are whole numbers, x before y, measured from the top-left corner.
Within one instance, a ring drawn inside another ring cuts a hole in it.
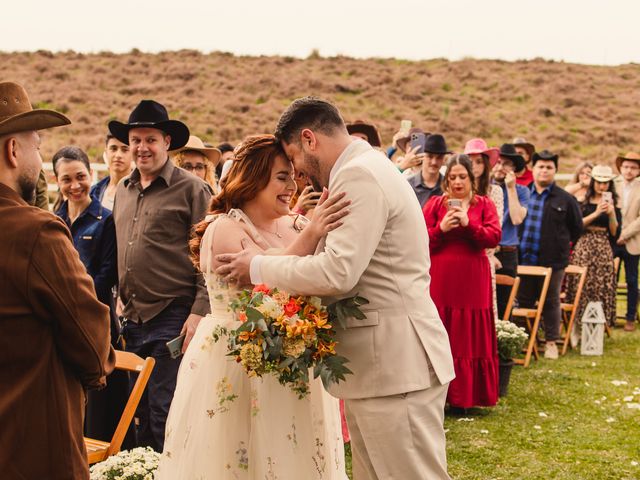
[[[353,375],[330,393],[356,399],[423,390],[429,361],[439,382],[450,382],[449,339],[429,294],[427,228],[410,185],[384,154],[356,140],[336,162],[329,191],[346,192],[351,213],[316,255],[265,256],[258,265],[271,287],[328,302],[369,300],[365,320],[337,328],[337,352]]]

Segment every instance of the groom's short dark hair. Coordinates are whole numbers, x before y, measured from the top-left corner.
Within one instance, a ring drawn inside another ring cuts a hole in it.
[[[331,135],[336,130],[347,133],[347,127],[335,105],[317,97],[303,97],[293,101],[284,111],[275,136],[280,142],[300,143],[300,132],[310,130]]]

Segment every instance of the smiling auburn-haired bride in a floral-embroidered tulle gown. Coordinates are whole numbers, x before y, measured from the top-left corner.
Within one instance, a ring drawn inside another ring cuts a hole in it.
[[[327,200],[325,192],[312,222],[292,216],[295,189],[293,167],[275,138],[249,137],[210,215],[196,226],[191,251],[207,283],[211,313],[180,366],[156,480],[347,478],[338,400],[320,379],[298,399],[273,376],[249,378],[226,356],[226,339],[213,338],[217,326],[237,327],[228,304],[239,290],[215,276],[215,255],[238,252],[246,242],[271,249],[267,253],[311,255],[348,213],[342,195]]]

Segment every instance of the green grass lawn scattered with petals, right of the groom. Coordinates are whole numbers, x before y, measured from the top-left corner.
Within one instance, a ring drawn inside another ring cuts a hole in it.
[[[603,356],[569,351],[556,361],[515,366],[509,394],[496,407],[447,416],[449,474],[454,480],[640,479],[640,409],[628,404],[640,404],[640,330],[618,328],[605,338]],[[352,478],[350,453],[347,446]]]

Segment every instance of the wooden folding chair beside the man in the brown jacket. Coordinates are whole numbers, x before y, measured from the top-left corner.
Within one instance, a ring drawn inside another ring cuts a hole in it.
[[[84,438],[89,464],[106,460],[111,455],[120,451],[120,447],[127,434],[131,420],[133,420],[133,415],[136,412],[138,403],[140,403],[140,398],[142,398],[142,393],[147,386],[155,363],[156,361],[152,357],[142,359],[135,353],[116,350],[116,369],[137,373],[138,379],[129,394],[129,400],[127,400],[127,404],[124,407],[118,426],[115,432],[113,432],[111,441],[103,442],[102,440]]]

